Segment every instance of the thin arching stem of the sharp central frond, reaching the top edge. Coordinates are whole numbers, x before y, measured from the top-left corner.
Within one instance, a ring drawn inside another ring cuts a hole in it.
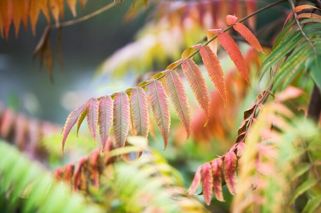
[[[271,8],[271,7],[274,7],[274,6],[276,6],[276,5],[278,5],[278,4],[281,4],[281,3],[284,3],[284,2],[287,2],[287,0],[278,0],[278,1],[276,1],[276,2],[274,2],[274,3],[272,3],[272,4],[270,4],[270,5],[267,5],[267,6],[261,8],[261,9],[259,9],[259,10],[256,10],[255,12],[253,12],[253,13],[245,16],[245,17],[242,18],[242,19],[239,19],[237,22],[243,22],[243,21],[249,19],[250,17],[252,17],[252,16],[254,16],[254,15],[260,13],[260,12],[263,12],[263,11],[265,11],[265,10]],[[226,32],[226,31],[230,30],[231,28],[232,28],[232,26],[229,26],[229,27],[225,28],[222,32]],[[208,45],[208,44],[209,44],[211,41],[213,41],[215,38],[217,38],[217,35],[214,36],[213,38],[211,38],[210,40],[208,40],[207,42],[205,42],[203,45]],[[200,48],[196,49],[196,50],[195,50],[191,55],[189,55],[187,58],[193,57],[194,55],[196,55],[196,54],[199,52],[199,50],[200,50]],[[176,66],[174,66],[172,69],[176,69],[176,68],[179,67],[182,63],[183,63],[183,60],[181,60],[181,61],[180,61]],[[169,72],[169,70],[163,71],[164,74],[166,74],[167,72]],[[159,76],[158,78],[151,79],[151,80],[148,81],[148,83],[146,83],[146,84],[143,85],[143,86],[145,87],[145,86],[151,84],[153,81],[159,80],[159,79],[163,78],[164,76],[165,76],[165,75],[162,75],[162,76]],[[136,87],[133,87],[133,88],[131,88],[131,89],[127,89],[126,92],[132,91],[133,89],[135,89],[135,88],[137,88],[137,87],[143,87],[143,86],[136,86]],[[115,96],[115,95],[118,94],[118,93],[120,93],[120,92],[115,92],[115,93],[112,94],[112,96]],[[99,97],[98,100],[101,99],[101,98],[102,98],[102,97]]]

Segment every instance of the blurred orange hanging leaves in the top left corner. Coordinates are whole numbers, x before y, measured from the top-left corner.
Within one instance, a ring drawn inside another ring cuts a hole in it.
[[[14,25],[17,37],[21,22],[27,30],[28,19],[32,34],[35,35],[40,12],[45,16],[48,25],[50,24],[50,14],[57,24],[59,19],[64,18],[65,3],[67,3],[72,15],[76,16],[76,2],[76,0],[3,0],[0,2],[0,35],[8,39],[10,26]],[[79,0],[79,3],[84,10],[87,1]]]

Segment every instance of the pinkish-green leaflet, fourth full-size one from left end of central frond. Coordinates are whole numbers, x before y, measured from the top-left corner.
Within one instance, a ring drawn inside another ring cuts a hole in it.
[[[114,132],[116,146],[124,147],[130,125],[129,99],[126,92],[117,93],[114,99]]]

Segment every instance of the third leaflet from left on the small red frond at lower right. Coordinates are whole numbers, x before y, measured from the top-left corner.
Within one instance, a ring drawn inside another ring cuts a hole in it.
[[[216,199],[224,202],[222,191],[222,166],[223,161],[220,158],[215,158],[211,161],[213,172],[213,194]]]

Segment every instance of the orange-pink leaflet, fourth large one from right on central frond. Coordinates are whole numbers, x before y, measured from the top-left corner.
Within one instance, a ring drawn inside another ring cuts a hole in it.
[[[210,93],[206,86],[205,79],[199,67],[192,59],[184,60],[182,63],[182,69],[185,78],[189,86],[191,87],[199,106],[203,109],[205,113],[206,122],[204,126],[206,126],[210,114]]]

